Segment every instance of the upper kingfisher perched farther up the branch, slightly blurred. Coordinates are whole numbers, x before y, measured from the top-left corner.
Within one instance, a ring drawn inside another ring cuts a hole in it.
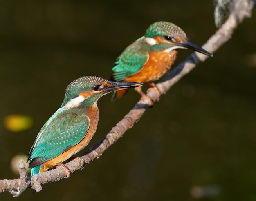
[[[144,36],[130,44],[117,57],[115,66],[112,68],[111,80],[149,82],[150,86],[156,88],[153,81],[158,80],[171,68],[179,48],[193,49],[210,57],[213,56],[200,46],[190,42],[186,33],[175,24],[155,22],[148,27]],[[122,97],[127,90],[114,91],[112,101]],[[137,87],[135,90],[141,94],[141,98],[148,98],[141,87]],[[151,99],[150,102],[152,103]]]

